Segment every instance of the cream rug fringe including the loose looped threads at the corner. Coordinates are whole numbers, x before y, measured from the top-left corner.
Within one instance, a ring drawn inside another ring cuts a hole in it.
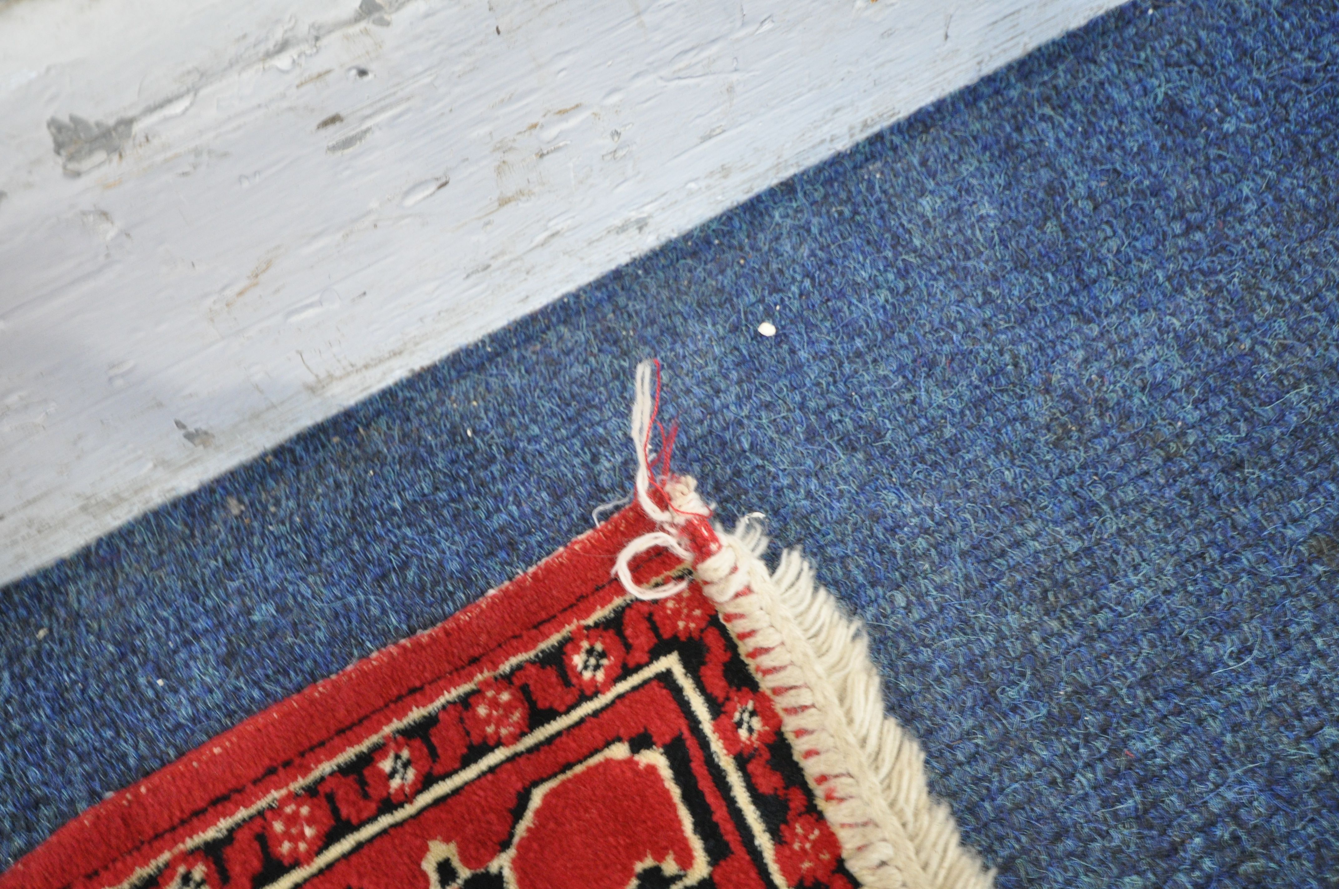
[[[624,548],[616,573],[632,596],[648,600],[680,588],[637,586],[628,568],[632,556],[663,546],[687,558],[694,538],[687,529],[696,523],[707,536],[712,530],[712,510],[691,477],[663,466],[655,487],[665,506],[651,495],[651,432],[659,407],[660,364],[643,361],[629,435],[637,455],[636,498],[659,529]],[[963,847],[953,814],[929,795],[920,744],[884,715],[864,625],[814,582],[814,569],[798,549],[782,553],[775,573],[769,572],[761,558],[767,536],[753,518],[739,519],[734,534],[715,526],[720,549],[703,548],[694,572],[777,702],[782,730],[841,841],[848,870],[870,889],[990,889],[995,873]]]

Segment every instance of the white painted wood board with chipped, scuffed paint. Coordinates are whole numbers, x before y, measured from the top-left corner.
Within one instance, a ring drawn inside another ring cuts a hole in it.
[[[1117,1],[269,5],[0,4],[0,582]]]

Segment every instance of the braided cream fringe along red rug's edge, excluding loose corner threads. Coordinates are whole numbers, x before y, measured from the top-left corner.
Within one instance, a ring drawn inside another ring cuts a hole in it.
[[[990,889],[994,870],[961,845],[948,805],[929,795],[920,744],[884,715],[861,621],[815,582],[798,549],[769,572],[758,522],[744,518],[734,534],[718,533],[749,580],[718,602],[731,632],[754,649],[848,869],[872,889]]]

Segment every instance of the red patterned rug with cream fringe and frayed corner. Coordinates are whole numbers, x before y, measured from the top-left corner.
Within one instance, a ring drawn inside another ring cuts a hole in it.
[[[668,444],[649,471],[648,380],[633,506],[88,810],[0,889],[988,885],[813,570],[712,526]]]

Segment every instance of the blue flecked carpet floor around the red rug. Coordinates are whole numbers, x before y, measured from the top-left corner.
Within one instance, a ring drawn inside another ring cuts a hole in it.
[[[1000,886],[1336,885],[1336,183],[1332,1],[1042,48],[0,592],[0,866],[588,528],[659,355]]]

